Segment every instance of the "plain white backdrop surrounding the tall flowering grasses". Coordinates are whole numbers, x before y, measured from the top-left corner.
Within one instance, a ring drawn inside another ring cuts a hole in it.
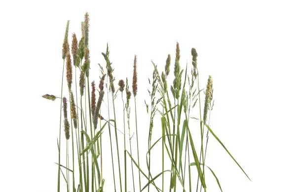
[[[190,49],[195,47],[201,85],[212,75],[212,129],[252,179],[244,176],[210,136],[207,163],[224,192],[301,191],[301,10],[299,0],[1,1],[0,191],[56,190],[60,103],[41,95],[60,95],[66,22],[70,20],[71,44],[72,33],[80,37],[85,11],[90,15],[91,80],[99,79],[97,63],[105,66],[101,52],[106,51],[107,42],[116,79],[128,77],[131,82],[134,54],[138,57],[139,142],[145,171],[148,115],[144,99],[148,99],[151,60],[161,71],[170,53],[172,80],[178,41],[182,67],[187,60],[190,66]],[[134,128],[133,104],[132,100]],[[120,101],[116,107],[121,115]],[[122,121],[118,126],[122,129]],[[198,123],[192,121],[191,129],[197,140]],[[104,134],[108,137],[108,129]],[[122,149],[122,135],[118,137]],[[104,145],[108,145],[105,186],[112,192],[108,139]],[[157,156],[153,153],[154,162],[161,162],[160,146],[158,150]],[[160,163],[152,169],[153,174],[160,170]],[[208,192],[218,192],[215,179],[207,175]],[[166,182],[169,177],[166,174]]]

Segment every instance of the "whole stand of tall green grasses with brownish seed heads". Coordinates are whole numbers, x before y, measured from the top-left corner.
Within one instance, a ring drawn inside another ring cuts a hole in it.
[[[106,63],[105,67],[107,74],[105,74],[103,66],[99,64],[101,70],[99,77],[99,89],[95,88],[94,81],[91,81],[92,89],[90,89],[89,71],[94,70],[94,67],[92,65],[90,66],[89,58],[88,13],[85,14],[84,22],[81,23],[81,31],[82,36],[78,42],[76,34],[73,34],[70,51],[68,41],[69,21],[67,22],[62,46],[63,70],[61,96],[57,97],[49,94],[42,96],[43,98],[51,101],[56,101],[57,99],[60,99],[61,101],[59,139],[57,140],[58,162],[56,162],[58,165],[58,192],[60,192],[64,186],[66,187],[64,191],[67,192],[104,192],[104,188],[106,188],[107,191],[114,189],[114,192],[164,192],[168,190],[170,192],[192,192],[195,190],[196,192],[201,192],[202,190],[206,192],[209,187],[207,186],[205,179],[206,173],[213,175],[216,180],[217,187],[223,191],[216,174],[217,170],[215,170],[215,173],[212,168],[207,166],[206,154],[209,139],[213,139],[222,145],[223,149],[238,165],[243,174],[250,179],[238,161],[230,154],[227,147],[214,133],[213,128],[210,127],[211,111],[214,106],[213,78],[209,76],[208,83],[204,89],[200,86],[197,68],[198,55],[194,48],[191,50],[191,65],[188,65],[187,63],[186,68],[182,69],[182,65],[180,63],[180,44],[176,44],[174,80],[172,82],[169,82],[168,78],[171,65],[170,54],[168,55],[166,65],[162,67],[163,71],[161,72],[158,70],[161,66],[157,66],[155,63],[151,62],[154,69],[152,74],[150,74],[152,75],[151,80],[148,78],[150,83],[150,88],[148,89],[149,98],[145,100],[149,122],[145,125],[138,125],[137,114],[144,112],[140,111],[141,108],[137,108],[137,97],[139,97],[137,95],[137,56],[135,55],[134,57],[133,65],[132,97],[131,90],[129,89],[128,78],[126,78],[126,85],[123,80],[119,80],[119,88],[117,90],[114,88],[115,77],[113,76],[114,70],[112,68],[112,62],[109,58],[108,44],[106,52],[102,53]],[[74,67],[71,65],[71,59],[73,59]],[[65,86],[63,86],[65,66],[69,100],[65,97],[63,99],[63,90],[65,88]],[[73,74],[73,71],[75,74]],[[80,73],[79,77],[76,76],[77,71]],[[105,83],[105,77],[107,77],[107,83]],[[78,81],[77,78],[79,78]],[[93,77],[91,78],[93,79]],[[72,86],[73,79],[75,83]],[[78,84],[76,82],[78,82]],[[106,89],[104,89],[105,86]],[[125,94],[123,94],[124,88]],[[73,92],[73,89],[76,91]],[[92,90],[91,94],[90,90]],[[120,91],[120,97],[117,97],[118,91]],[[144,91],[143,88],[141,91]],[[107,101],[105,101],[104,98],[105,92],[107,93]],[[123,95],[126,96],[126,101],[124,101]],[[115,108],[115,102],[119,99],[122,102],[122,108]],[[134,100],[134,102],[130,102],[131,100]],[[202,101],[205,101],[203,106]],[[196,105],[197,103],[198,105]],[[133,104],[134,106],[132,106]],[[69,108],[67,108],[67,105],[69,105]],[[106,108],[104,108],[104,106]],[[110,108],[111,106],[112,108]],[[196,106],[199,107],[198,110],[194,109]],[[131,108],[134,108],[134,113],[132,114],[130,113]],[[117,110],[123,111],[123,117],[117,116],[119,114],[116,113]],[[62,117],[62,111],[64,112],[64,117]],[[67,111],[70,113],[67,113]],[[70,114],[70,117],[68,114]],[[106,120],[101,114],[108,114],[108,120]],[[195,117],[197,114],[199,118]],[[111,119],[111,116],[113,116],[113,119]],[[64,156],[61,155],[64,152],[64,149],[61,149],[62,118],[64,120],[64,131],[66,135],[65,159],[63,158]],[[135,120],[135,126],[130,124],[132,118]],[[70,124],[69,119],[71,122]],[[123,119],[123,131],[120,131],[117,127],[117,124],[119,124],[121,119]],[[199,138],[201,145],[199,145],[200,142],[194,141],[195,137],[193,138],[191,130],[196,129],[196,127],[192,126],[192,120],[190,119],[199,121]],[[160,124],[161,129],[158,129],[157,124]],[[90,126],[90,129],[88,126]],[[108,132],[106,131],[107,129],[105,129],[107,126]],[[128,127],[128,131],[126,126]],[[156,126],[156,129],[154,129],[154,126]],[[146,127],[149,127],[148,142],[141,143],[139,140],[141,135],[138,130],[146,129]],[[112,129],[114,129],[115,133],[114,145],[116,146],[117,159],[113,158]],[[132,130],[134,130],[135,135],[131,136]],[[153,135],[156,135],[153,133],[154,131],[161,131],[160,138],[154,138]],[[119,132],[123,135],[123,141],[118,137]],[[128,139],[126,139],[127,136]],[[110,158],[108,157],[110,154],[105,154],[103,151],[104,148],[109,148],[109,146],[102,144],[102,138],[104,137],[109,137],[110,140],[112,173],[103,172],[103,158]],[[133,137],[135,137],[134,140],[132,140]],[[126,140],[129,140],[129,143]],[[74,144],[74,141],[76,144]],[[121,150],[119,147],[120,143],[123,143],[121,144],[123,145],[123,163],[120,163],[121,159],[119,158],[119,152]],[[136,149],[132,148],[133,143],[136,143]],[[198,145],[196,143],[198,143]],[[140,151],[140,145],[148,146],[148,151],[146,152],[147,166],[140,162],[142,153],[145,153]],[[161,164],[155,164],[152,162],[152,155],[155,154],[152,150],[154,151],[155,146],[157,145],[161,145],[160,153],[156,153],[156,155],[161,154]],[[128,150],[130,150],[130,152]],[[72,160],[69,159],[70,153],[72,154]],[[134,157],[133,154],[137,154],[137,156]],[[89,158],[91,159],[90,161]],[[127,166],[130,166],[130,162],[131,176],[130,172],[127,172],[126,169]],[[170,169],[165,170],[166,166],[164,166],[164,164],[167,162],[170,164]],[[66,164],[64,165],[64,163]],[[114,172],[117,171],[116,163],[118,166],[118,176],[114,174]],[[158,167],[160,171],[154,173],[154,170],[158,170],[156,167]],[[196,170],[196,172],[193,170]],[[164,175],[166,174],[169,175],[170,180],[164,179]],[[62,180],[61,176],[63,176],[64,180]],[[72,178],[70,178],[70,176],[72,176]],[[106,186],[105,180],[111,180],[112,178],[113,186]],[[130,184],[127,183],[129,180],[132,180]],[[62,184],[62,181],[65,181],[65,183]],[[119,187],[116,187],[116,184],[118,185],[116,182],[118,181]],[[124,181],[123,184],[122,181]]]

